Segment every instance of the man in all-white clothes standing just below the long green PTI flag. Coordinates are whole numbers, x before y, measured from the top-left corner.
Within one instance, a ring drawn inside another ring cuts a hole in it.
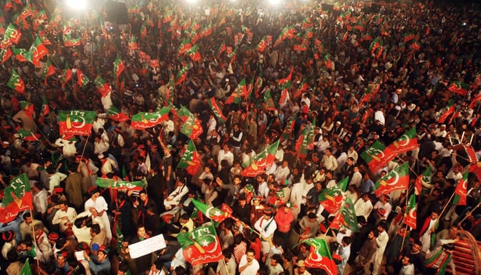
[[[104,197],[100,196],[100,191],[95,186],[89,189],[89,195],[91,197],[85,201],[85,211],[90,212],[93,215],[94,221],[100,223],[100,228],[105,230],[107,240],[110,241],[112,239],[112,231],[109,215],[107,214],[109,205]]]

